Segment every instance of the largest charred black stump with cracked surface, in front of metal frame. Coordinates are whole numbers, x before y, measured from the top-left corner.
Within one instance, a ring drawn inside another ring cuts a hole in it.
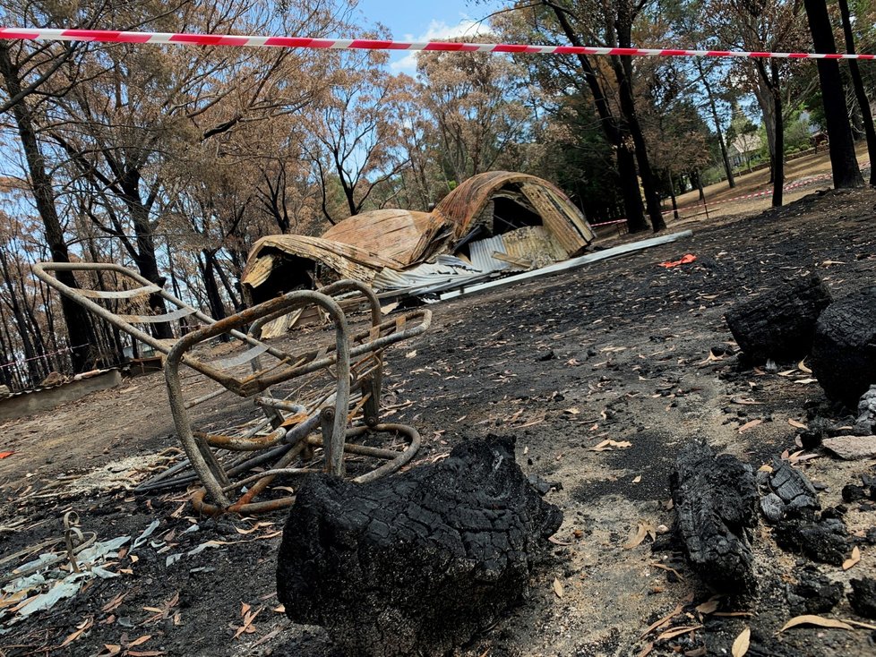
[[[562,522],[513,439],[367,484],[313,475],[283,532],[279,600],[346,654],[443,654],[520,601]]]

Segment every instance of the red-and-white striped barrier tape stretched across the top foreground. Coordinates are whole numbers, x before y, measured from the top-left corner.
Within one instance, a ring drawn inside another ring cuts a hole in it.
[[[237,46],[330,48],[336,50],[443,50],[532,55],[628,55],[659,57],[756,57],[781,59],[876,59],[876,55],[846,53],[768,53],[742,50],[686,50],[682,48],[610,48],[588,46],[534,46],[517,43],[451,43],[444,41],[391,41],[372,38],[258,37],[187,32],[124,32],[116,30],[56,30],[0,28],[0,38],[99,43],[167,43],[181,46]]]

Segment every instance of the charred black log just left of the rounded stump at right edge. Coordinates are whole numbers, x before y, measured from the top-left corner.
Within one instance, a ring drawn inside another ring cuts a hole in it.
[[[809,354],[815,322],[829,303],[828,288],[813,274],[736,303],[725,319],[751,359],[787,361]]]

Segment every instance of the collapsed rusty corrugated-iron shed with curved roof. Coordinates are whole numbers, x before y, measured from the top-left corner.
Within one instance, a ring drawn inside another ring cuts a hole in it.
[[[469,178],[432,212],[378,209],[322,237],[263,237],[243,285],[252,303],[341,278],[382,293],[429,294],[545,267],[580,255],[592,240],[587,220],[553,184],[494,171]]]

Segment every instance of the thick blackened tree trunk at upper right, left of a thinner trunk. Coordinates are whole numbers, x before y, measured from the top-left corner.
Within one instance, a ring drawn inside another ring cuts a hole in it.
[[[817,53],[836,53],[828,7],[824,0],[804,0],[806,15],[809,18],[809,31],[812,44]],[[830,168],[833,173],[835,189],[863,187],[861,169],[855,158],[855,141],[848,123],[846,90],[843,89],[839,64],[835,59],[818,60],[818,76],[821,84],[821,102],[824,104],[824,117],[828,124],[828,149]]]

